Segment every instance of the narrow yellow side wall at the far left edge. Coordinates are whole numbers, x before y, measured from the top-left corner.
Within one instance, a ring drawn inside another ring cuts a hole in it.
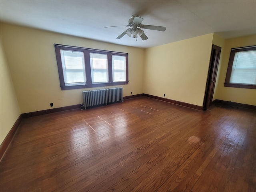
[[[20,116],[20,108],[12,84],[4,49],[0,47],[0,143]]]

